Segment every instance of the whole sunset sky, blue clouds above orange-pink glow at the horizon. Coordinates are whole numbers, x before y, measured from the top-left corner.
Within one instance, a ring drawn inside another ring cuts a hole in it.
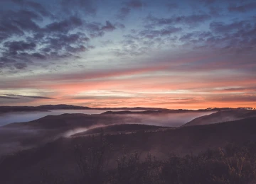
[[[0,105],[256,108],[254,0],[1,0]]]

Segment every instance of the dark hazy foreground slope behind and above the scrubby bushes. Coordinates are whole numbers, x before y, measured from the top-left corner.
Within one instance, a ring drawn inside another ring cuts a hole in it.
[[[42,169],[45,169],[55,178],[65,177],[65,180],[74,182],[81,177],[77,170],[75,147],[81,147],[82,153],[86,154],[86,150],[101,146],[101,139],[100,136],[62,138],[35,149],[6,156],[0,164],[0,178],[6,184],[18,183],[20,180],[38,183],[46,178],[42,176]],[[106,146],[111,145],[110,149],[108,146],[105,148],[105,159],[109,163],[107,168],[116,166],[117,158],[124,153],[123,149],[127,153],[139,151],[141,159],[146,158],[149,152],[160,159],[167,159],[169,153],[197,155],[207,149],[224,147],[228,142],[256,142],[256,117],[175,130],[111,134],[104,136],[104,142]]]

